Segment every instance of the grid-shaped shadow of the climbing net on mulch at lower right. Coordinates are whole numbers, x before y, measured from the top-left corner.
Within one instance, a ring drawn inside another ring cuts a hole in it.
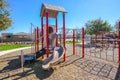
[[[110,80],[120,80],[120,69],[111,64],[93,61],[86,58],[78,58],[74,60],[72,64],[92,75],[104,77]]]

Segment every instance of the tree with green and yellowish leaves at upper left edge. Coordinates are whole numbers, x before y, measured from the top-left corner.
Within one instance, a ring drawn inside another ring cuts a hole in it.
[[[5,0],[0,0],[0,31],[6,30],[12,25],[10,18],[9,4]]]

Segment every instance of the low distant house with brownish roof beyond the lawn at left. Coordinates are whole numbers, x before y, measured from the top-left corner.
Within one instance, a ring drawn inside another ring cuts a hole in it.
[[[32,36],[28,33],[19,32],[17,34],[13,33],[2,33],[1,42],[26,42],[32,41]]]

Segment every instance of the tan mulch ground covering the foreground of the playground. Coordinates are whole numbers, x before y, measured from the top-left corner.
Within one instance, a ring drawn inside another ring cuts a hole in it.
[[[29,54],[30,49],[24,50]],[[43,61],[38,59],[21,68],[21,51],[0,56],[0,80],[120,80],[117,63],[81,55],[71,55],[67,51],[66,62],[51,69],[42,69]],[[69,54],[69,55],[68,55]]]

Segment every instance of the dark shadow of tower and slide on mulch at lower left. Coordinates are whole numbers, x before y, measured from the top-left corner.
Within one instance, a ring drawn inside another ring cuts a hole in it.
[[[7,66],[5,66],[3,69],[0,70],[0,79],[28,79],[29,77],[31,79],[46,79],[54,72],[53,69],[49,70],[43,70],[42,69],[42,61],[36,61],[31,63],[26,63],[24,65],[24,71],[21,69],[20,65],[20,57],[8,60]]]

